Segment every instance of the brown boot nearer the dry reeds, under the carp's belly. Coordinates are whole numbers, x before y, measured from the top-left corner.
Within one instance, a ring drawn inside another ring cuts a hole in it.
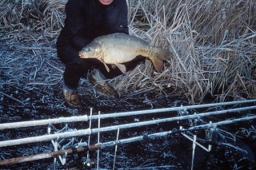
[[[94,69],[89,75],[89,81],[98,89],[109,96],[118,97],[118,93],[106,82],[106,77],[98,69]]]

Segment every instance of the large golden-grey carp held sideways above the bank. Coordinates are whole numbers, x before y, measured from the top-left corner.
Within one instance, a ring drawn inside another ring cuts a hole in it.
[[[170,57],[170,51],[149,45],[146,41],[127,34],[109,34],[95,38],[79,52],[81,58],[97,58],[106,64],[117,65],[122,73],[126,73],[126,66],[122,63],[132,61],[137,56],[148,57],[154,68],[161,72],[163,61]]]

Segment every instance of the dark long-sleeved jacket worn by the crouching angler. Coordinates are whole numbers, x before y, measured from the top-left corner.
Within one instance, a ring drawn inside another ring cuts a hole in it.
[[[57,41],[57,48],[72,45],[82,49],[102,35],[128,32],[126,0],[114,0],[103,6],[99,0],[69,0],[66,20]]]

